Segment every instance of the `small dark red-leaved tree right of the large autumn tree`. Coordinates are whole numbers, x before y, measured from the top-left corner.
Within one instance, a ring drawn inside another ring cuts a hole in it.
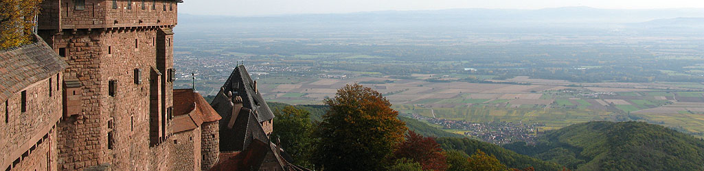
[[[394,152],[395,158],[408,158],[422,165],[423,170],[446,170],[445,154],[433,137],[408,131],[406,141]]]

